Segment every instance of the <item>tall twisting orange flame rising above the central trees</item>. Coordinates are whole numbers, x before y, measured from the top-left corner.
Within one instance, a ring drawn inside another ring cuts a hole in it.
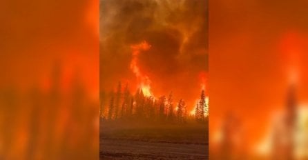
[[[143,41],[142,43],[135,44],[131,46],[132,50],[132,60],[131,60],[131,70],[135,74],[137,78],[138,88],[141,88],[143,94],[146,97],[152,96],[151,92],[151,80],[148,78],[148,76],[144,73],[142,73],[138,66],[138,55],[142,51],[149,50],[151,48],[151,45],[149,45],[146,41]]]

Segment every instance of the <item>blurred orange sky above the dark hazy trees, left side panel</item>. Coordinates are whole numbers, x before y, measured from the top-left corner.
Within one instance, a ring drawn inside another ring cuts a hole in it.
[[[1,84],[28,88],[47,83],[55,63],[61,63],[63,83],[70,72],[78,72],[85,88],[98,94],[98,2],[25,3],[1,3]]]

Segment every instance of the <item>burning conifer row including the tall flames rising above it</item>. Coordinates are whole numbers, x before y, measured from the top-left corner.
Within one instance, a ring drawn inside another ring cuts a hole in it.
[[[139,56],[143,52],[151,49],[151,45],[142,41],[131,45],[131,63],[130,69],[135,75],[136,84],[138,88],[135,95],[128,90],[128,84],[122,90],[121,82],[118,83],[117,89],[110,97],[110,104],[108,106],[108,119],[128,119],[128,120],[149,120],[149,121],[164,121],[180,123],[186,121],[187,110],[183,99],[177,105],[177,110],[173,106],[173,94],[169,97],[162,96],[156,99],[151,90],[151,79],[146,72],[142,72],[139,66]],[[195,119],[197,121],[204,121],[204,113],[207,112],[205,100],[205,74],[200,74],[202,79],[202,92],[200,101],[195,108]],[[123,92],[122,92],[123,91]],[[103,107],[102,107],[103,108]],[[101,108],[101,110],[102,110]],[[191,112],[190,112],[191,113]],[[189,117],[192,118],[192,117]]]

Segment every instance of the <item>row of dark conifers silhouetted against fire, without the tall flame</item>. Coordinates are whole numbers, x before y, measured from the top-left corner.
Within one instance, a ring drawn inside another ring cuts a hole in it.
[[[173,123],[186,123],[189,117],[194,117],[195,121],[206,121],[208,106],[204,90],[200,94],[200,99],[195,106],[194,114],[190,115],[187,110],[184,99],[175,103],[173,93],[167,97],[165,95],[155,99],[153,96],[147,97],[142,89],[138,89],[135,94],[131,94],[128,84],[122,89],[122,83],[119,82],[115,92],[110,92],[109,99],[106,99],[101,106],[101,118],[106,121],[117,119],[133,121],[160,121]]]

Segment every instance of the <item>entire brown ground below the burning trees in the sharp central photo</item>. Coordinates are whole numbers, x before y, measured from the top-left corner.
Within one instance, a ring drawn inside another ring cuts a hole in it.
[[[207,126],[101,123],[100,159],[208,159]]]

